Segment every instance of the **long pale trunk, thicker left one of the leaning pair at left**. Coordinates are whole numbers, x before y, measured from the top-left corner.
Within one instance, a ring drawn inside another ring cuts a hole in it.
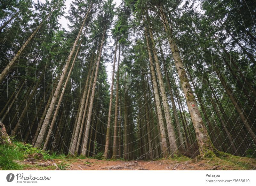
[[[64,80],[64,78],[66,76],[66,73],[68,71],[68,65],[69,65],[69,63],[70,63],[70,61],[72,59],[72,56],[73,56],[74,52],[75,52],[76,44],[77,44],[77,42],[78,42],[78,40],[80,38],[80,35],[81,35],[82,30],[84,28],[85,21],[87,20],[87,17],[88,17],[88,15],[90,13],[91,7],[92,7],[92,5],[90,5],[90,7],[89,7],[89,9],[88,9],[88,11],[87,11],[87,13],[85,15],[85,18],[83,20],[82,26],[80,27],[80,30],[79,30],[79,32],[78,32],[78,34],[76,36],[76,40],[75,40],[75,42],[73,44],[73,47],[72,47],[72,49],[70,51],[70,54],[68,56],[68,60],[66,62],[66,65],[65,65],[65,67],[64,67],[64,69],[62,71],[62,74],[60,76],[60,81],[59,81],[58,86],[57,86],[57,88],[56,88],[56,90],[54,92],[54,95],[52,97],[52,101],[51,101],[50,107],[49,107],[49,109],[47,111],[47,114],[45,116],[44,123],[42,125],[41,130],[40,130],[40,133],[39,133],[39,135],[37,137],[37,140],[36,140],[36,143],[35,143],[35,147],[40,147],[42,142],[43,142],[44,134],[46,133],[47,126],[49,125],[49,122],[50,122],[50,119],[51,119],[51,116],[52,116],[52,111],[53,111],[54,105],[56,103],[56,100],[57,100],[59,92],[60,92],[62,81]]]

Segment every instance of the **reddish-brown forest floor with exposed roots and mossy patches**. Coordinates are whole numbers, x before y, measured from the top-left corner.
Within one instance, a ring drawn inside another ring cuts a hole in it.
[[[144,160],[97,160],[61,158],[53,160],[26,159],[16,161],[23,170],[256,170],[256,159],[227,155],[218,158],[178,158]]]

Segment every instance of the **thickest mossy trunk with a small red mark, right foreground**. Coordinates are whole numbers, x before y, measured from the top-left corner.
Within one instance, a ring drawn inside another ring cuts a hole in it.
[[[180,52],[176,46],[176,43],[174,41],[173,35],[172,35],[172,29],[169,26],[168,20],[166,18],[165,12],[163,11],[163,8],[159,8],[160,11],[160,17],[164,24],[164,30],[168,34],[168,42],[170,44],[170,48],[172,51],[172,57],[174,59],[175,67],[178,72],[180,83],[182,86],[183,93],[185,95],[187,105],[188,105],[188,111],[191,116],[191,120],[196,132],[196,139],[199,146],[199,151],[201,155],[204,155],[209,150],[215,151],[212,141],[208,135],[207,129],[204,125],[202,116],[199,112],[197,102],[195,100],[195,96],[192,92],[191,86],[188,82],[188,78],[185,72],[185,68],[183,65],[183,62],[180,58]]]

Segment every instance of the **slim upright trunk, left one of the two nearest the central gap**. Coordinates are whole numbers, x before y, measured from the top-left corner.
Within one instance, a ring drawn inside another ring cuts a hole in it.
[[[115,48],[115,56],[114,56],[114,62],[113,62],[112,82],[111,82],[110,100],[109,100],[109,108],[108,108],[108,124],[107,124],[107,133],[106,133],[106,144],[105,144],[105,151],[104,151],[104,159],[108,158],[108,145],[109,145],[109,137],[110,137],[109,134],[110,134],[111,109],[112,109],[113,88],[114,88],[114,79],[115,79],[115,68],[116,68],[117,43],[118,43],[118,39],[116,38],[116,48]],[[119,53],[120,53],[120,50],[119,50]],[[116,113],[117,113],[117,111],[116,111]],[[115,135],[115,133],[114,133],[114,135]],[[114,158],[116,158],[116,157],[114,157]]]

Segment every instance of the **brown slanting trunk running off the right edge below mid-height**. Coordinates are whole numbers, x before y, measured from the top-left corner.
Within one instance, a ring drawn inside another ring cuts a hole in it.
[[[236,100],[234,95],[231,93],[230,87],[228,86],[228,84],[225,81],[225,79],[223,78],[223,76],[220,74],[220,71],[217,68],[215,68],[215,72],[218,75],[218,77],[220,78],[220,82],[223,85],[223,87],[225,88],[225,90],[226,90],[226,92],[228,94],[228,97],[230,98],[230,100],[233,103],[234,107],[236,108],[236,111],[239,114],[242,122],[244,123],[244,126],[245,126],[246,130],[248,131],[249,135],[252,137],[253,142],[256,144],[255,133],[253,132],[252,127],[248,123],[246,116],[243,114],[244,111],[242,111],[242,109],[240,108],[240,104],[238,103],[238,101]]]

